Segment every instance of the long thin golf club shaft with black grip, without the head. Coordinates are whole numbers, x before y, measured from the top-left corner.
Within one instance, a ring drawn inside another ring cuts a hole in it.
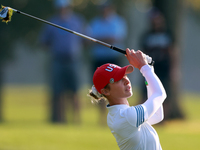
[[[110,49],[113,49],[113,50],[115,50],[115,51],[118,51],[118,52],[120,52],[120,53],[122,53],[122,54],[126,54],[126,51],[125,51],[125,50],[120,49],[120,48],[115,47],[115,46],[112,46],[112,45],[110,45],[110,44],[108,44],[108,43],[99,41],[99,40],[94,39],[94,38],[92,38],[92,37],[89,37],[89,36],[86,36],[86,35],[84,35],[84,34],[78,33],[78,32],[76,32],[76,31],[73,31],[73,30],[64,28],[64,27],[62,27],[62,26],[59,26],[59,25],[57,25],[57,24],[54,24],[54,23],[52,23],[52,22],[49,22],[49,21],[40,19],[40,18],[35,17],[35,16],[32,16],[32,15],[29,15],[29,14],[24,13],[24,12],[21,12],[21,11],[19,11],[19,10],[15,10],[15,9],[13,9],[13,10],[14,10],[16,13],[19,13],[19,14],[22,14],[22,15],[25,15],[25,16],[28,16],[28,17],[31,17],[31,18],[33,18],[33,19],[36,19],[36,20],[38,20],[38,21],[41,21],[41,22],[44,22],[44,23],[46,23],[46,24],[52,25],[52,26],[57,27],[57,28],[59,28],[59,29],[62,29],[62,30],[65,30],[65,31],[67,31],[67,32],[70,32],[70,33],[76,34],[76,35],[78,35],[78,36],[81,36],[81,37],[83,37],[83,38],[85,38],[85,39],[88,39],[88,40],[90,40],[90,41],[93,41],[93,42],[95,42],[95,43],[99,43],[99,44],[101,44],[101,45],[103,45],[103,46],[106,46],[106,47],[108,47],[108,48],[110,48]]]

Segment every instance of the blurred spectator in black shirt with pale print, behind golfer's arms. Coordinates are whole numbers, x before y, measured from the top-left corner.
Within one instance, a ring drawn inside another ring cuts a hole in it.
[[[166,89],[167,99],[164,102],[165,119],[182,118],[183,115],[178,105],[175,106],[177,110],[172,110],[174,106],[170,106],[177,104],[177,99],[172,94],[173,88],[171,86],[172,81],[177,78],[175,73],[177,68],[173,68],[176,65],[172,65],[172,63],[176,62],[173,54],[174,41],[167,30],[165,18],[160,11],[153,9],[149,14],[149,18],[151,23],[150,30],[143,35],[141,49],[155,61],[155,73]],[[141,102],[144,102],[147,99],[146,87],[144,82],[142,85]]]

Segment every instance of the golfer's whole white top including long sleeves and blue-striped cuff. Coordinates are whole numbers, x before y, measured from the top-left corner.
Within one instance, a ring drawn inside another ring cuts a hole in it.
[[[142,75],[148,82],[148,99],[137,106],[107,106],[107,124],[120,150],[162,150],[159,137],[151,126],[163,119],[162,103],[166,92],[153,67],[145,65]]]

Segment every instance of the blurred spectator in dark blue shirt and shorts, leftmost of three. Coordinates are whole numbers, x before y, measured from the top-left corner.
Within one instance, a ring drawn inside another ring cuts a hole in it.
[[[84,19],[73,12],[70,0],[56,0],[55,7],[57,14],[50,19],[51,22],[80,33],[83,32]],[[66,122],[65,111],[73,109],[74,121],[80,122],[80,102],[77,92],[79,89],[78,65],[82,63],[82,38],[46,25],[40,39],[51,54],[48,74],[52,88],[51,121]]]

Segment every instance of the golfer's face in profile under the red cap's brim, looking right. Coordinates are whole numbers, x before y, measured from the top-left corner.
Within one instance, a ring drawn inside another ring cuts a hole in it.
[[[132,96],[132,87],[127,75],[117,82],[110,83],[110,95],[116,99]]]

